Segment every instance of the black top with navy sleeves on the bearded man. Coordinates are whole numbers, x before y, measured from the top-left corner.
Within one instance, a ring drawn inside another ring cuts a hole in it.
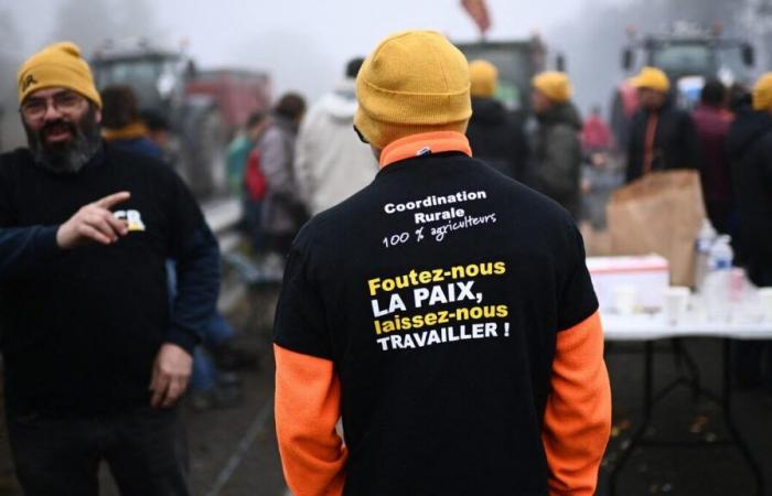
[[[64,250],[56,231],[83,205],[115,206],[129,233]],[[176,261],[169,301],[165,262]],[[9,409],[99,414],[147,408],[163,343],[189,353],[219,288],[219,250],[201,208],[167,164],[107,144],[76,175],[26,149],[0,155],[0,349]],[[172,306],[170,309],[170,306]]]

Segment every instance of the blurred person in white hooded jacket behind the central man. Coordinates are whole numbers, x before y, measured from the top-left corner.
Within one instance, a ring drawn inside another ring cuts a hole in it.
[[[369,184],[378,163],[353,131],[354,82],[362,58],[346,64],[345,79],[305,115],[296,144],[296,180],[309,212],[315,215]]]

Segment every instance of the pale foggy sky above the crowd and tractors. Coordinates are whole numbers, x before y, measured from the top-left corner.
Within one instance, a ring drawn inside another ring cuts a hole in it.
[[[550,61],[558,52],[566,55],[575,99],[587,112],[592,105],[608,108],[612,88],[626,77],[620,67],[626,25],[634,23],[642,33],[675,20],[731,25],[741,10],[737,6],[748,1],[489,0],[487,37],[539,33]],[[66,14],[63,6],[71,7]],[[18,105],[15,71],[9,67],[61,37],[81,43],[86,56],[93,53],[89,44],[107,35],[143,35],[169,47],[186,40],[202,68],[261,69],[274,80],[274,97],[298,90],[309,100],[340,79],[349,58],[366,55],[392,32],[435,29],[453,41],[479,37],[459,0],[0,0],[0,15],[4,12],[20,34],[0,33],[0,58],[14,58],[0,75],[6,108]],[[6,112],[4,128],[21,139],[13,114]]]

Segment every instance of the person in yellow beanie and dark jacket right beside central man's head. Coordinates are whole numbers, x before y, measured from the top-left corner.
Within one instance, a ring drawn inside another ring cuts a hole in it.
[[[523,181],[528,147],[523,129],[504,106],[494,98],[498,71],[487,61],[469,64],[472,118],[467,138],[474,157],[502,174]]]

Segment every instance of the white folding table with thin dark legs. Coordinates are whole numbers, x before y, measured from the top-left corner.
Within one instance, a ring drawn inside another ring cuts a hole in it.
[[[723,410],[723,419],[729,431],[730,439],[716,444],[736,445],[743,460],[753,472],[757,485],[757,494],[764,495],[764,481],[759,463],[752,456],[748,445],[740,435],[731,412],[731,341],[732,339],[772,339],[772,322],[737,319],[735,321],[723,319],[709,319],[706,315],[688,313],[677,323],[669,323],[662,313],[616,315],[602,313],[603,333],[607,342],[643,342],[644,351],[644,388],[643,388],[643,420],[633,432],[630,443],[622,450],[619,461],[610,474],[609,488],[612,495],[616,494],[616,478],[624,468],[630,455],[636,446],[643,445],[669,445],[687,446],[695,443],[652,441],[643,439],[650,427],[654,405],[662,400],[675,386],[683,382],[683,378],[672,382],[658,392],[654,392],[654,342],[672,339],[674,345],[680,346],[679,341],[687,337],[716,337],[723,342],[722,346],[722,387],[721,393],[716,396],[699,388],[698,381],[693,385],[699,393],[716,401]],[[693,365],[696,368],[696,365]]]

